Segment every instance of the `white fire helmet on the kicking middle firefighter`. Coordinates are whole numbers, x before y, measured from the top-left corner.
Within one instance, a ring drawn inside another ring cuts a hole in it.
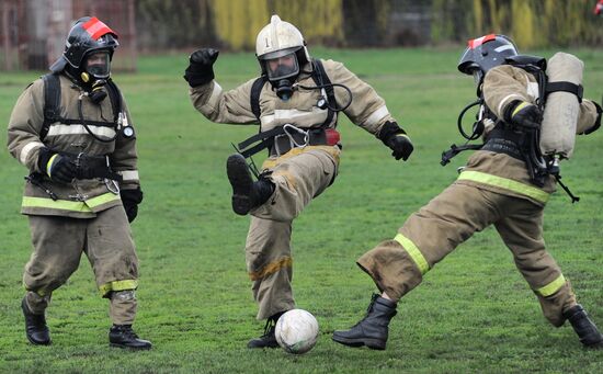
[[[255,55],[262,73],[266,73],[271,81],[297,76],[299,67],[310,60],[306,42],[299,30],[288,22],[281,21],[276,14],[272,15],[270,24],[265,25],[258,34]],[[270,68],[269,60],[286,57],[289,57],[289,60],[293,57],[294,64]]]

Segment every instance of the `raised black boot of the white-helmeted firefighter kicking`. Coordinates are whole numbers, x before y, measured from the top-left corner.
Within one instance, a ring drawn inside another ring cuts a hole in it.
[[[226,173],[232,186],[232,211],[244,216],[252,208],[265,203],[274,192],[274,184],[260,175],[253,181],[244,157],[235,154],[226,161]]]

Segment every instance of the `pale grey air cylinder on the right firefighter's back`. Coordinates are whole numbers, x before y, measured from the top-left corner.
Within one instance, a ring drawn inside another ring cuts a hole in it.
[[[582,84],[584,64],[576,56],[556,53],[548,60],[549,82]],[[566,91],[551,92],[546,99],[541,129],[541,151],[545,156],[570,158],[576,141],[576,126],[580,114],[578,97]]]

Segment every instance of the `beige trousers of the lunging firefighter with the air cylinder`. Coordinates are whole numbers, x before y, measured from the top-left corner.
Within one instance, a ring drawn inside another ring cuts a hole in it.
[[[379,243],[357,264],[397,301],[474,233],[494,225],[538,297],[544,316],[561,326],[562,311],[577,303],[569,282],[545,249],[543,211],[524,199],[454,183],[412,214],[395,240]]]

